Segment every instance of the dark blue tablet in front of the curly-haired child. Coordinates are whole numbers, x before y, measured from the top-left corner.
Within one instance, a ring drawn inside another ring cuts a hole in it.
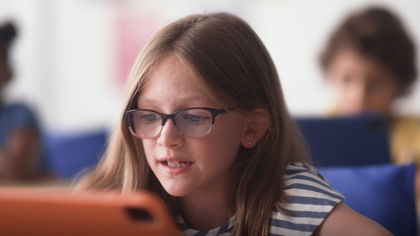
[[[384,117],[294,119],[315,166],[364,166],[389,163],[388,123]]]

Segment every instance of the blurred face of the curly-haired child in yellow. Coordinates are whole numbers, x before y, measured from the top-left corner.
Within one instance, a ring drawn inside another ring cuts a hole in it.
[[[339,115],[379,112],[389,114],[401,88],[385,67],[353,49],[341,49],[327,70],[339,93]]]

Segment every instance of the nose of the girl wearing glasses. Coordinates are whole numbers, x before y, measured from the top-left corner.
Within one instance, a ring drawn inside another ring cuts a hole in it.
[[[171,119],[165,120],[160,135],[157,137],[157,144],[165,148],[179,148],[184,145],[184,136]]]

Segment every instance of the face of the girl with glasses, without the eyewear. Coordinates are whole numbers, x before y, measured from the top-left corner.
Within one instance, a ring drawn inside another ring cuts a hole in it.
[[[173,114],[191,107],[227,108],[206,96],[189,69],[173,55],[165,57],[144,82],[139,109]],[[177,197],[205,194],[219,191],[228,182],[246,129],[237,117],[220,114],[208,135],[186,137],[167,119],[157,137],[142,139],[142,143],[147,162],[166,192]],[[168,166],[168,161],[179,161],[181,167]]]

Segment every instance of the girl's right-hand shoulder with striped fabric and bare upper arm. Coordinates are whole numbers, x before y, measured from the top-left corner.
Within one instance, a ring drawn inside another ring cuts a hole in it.
[[[290,163],[283,177],[289,202],[273,209],[271,235],[391,235],[347,207],[344,197],[313,166]]]

